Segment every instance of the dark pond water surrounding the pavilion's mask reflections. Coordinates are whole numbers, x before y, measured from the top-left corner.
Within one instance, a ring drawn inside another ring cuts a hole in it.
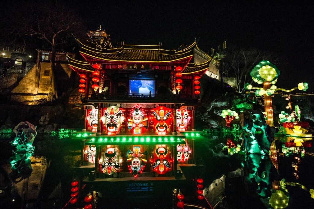
[[[177,199],[172,194],[173,189],[178,188],[184,194],[186,204],[210,208],[205,201],[196,199],[193,181],[201,177],[204,188],[211,188],[213,183],[214,187],[217,186],[215,180],[224,175],[225,178],[221,180],[224,181],[224,191],[220,199],[214,201],[218,203],[215,208],[275,208],[286,205],[286,208],[314,208],[314,199],[311,198],[314,197],[311,190],[314,189],[313,140],[296,147],[289,142],[291,139],[278,136],[271,143],[269,156],[261,156],[242,151],[231,154],[226,150],[222,151],[227,143],[230,146],[232,142],[235,147],[241,144],[235,140],[237,137],[206,136],[195,140],[196,166],[182,169],[186,180],[180,181],[178,186],[175,181],[159,180],[89,182],[88,175],[93,168],[76,168],[81,153],[80,143],[47,135],[36,136],[33,143],[35,156],[40,158],[36,158],[39,159],[37,164],[32,161],[31,176],[21,183],[9,184],[4,176],[10,172],[8,165],[13,147],[8,142],[12,138],[0,138],[0,145],[3,147],[0,196],[12,207],[21,204],[28,208],[84,207],[84,197],[95,191],[97,200],[92,203],[99,208],[176,208]],[[75,204],[68,203],[73,180],[78,181],[78,188],[83,188]],[[34,186],[35,183],[39,184],[38,188]],[[28,184],[27,190],[25,184]],[[274,189],[280,192],[273,192]],[[25,196],[25,192],[38,194]]]

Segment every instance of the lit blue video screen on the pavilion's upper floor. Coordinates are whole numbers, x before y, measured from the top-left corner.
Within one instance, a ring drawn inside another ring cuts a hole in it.
[[[129,94],[155,94],[154,80],[130,80],[129,86]]]

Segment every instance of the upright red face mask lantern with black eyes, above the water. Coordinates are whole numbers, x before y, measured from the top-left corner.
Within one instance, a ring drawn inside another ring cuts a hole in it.
[[[152,109],[152,120],[158,135],[166,135],[171,120],[171,109],[163,106]]]

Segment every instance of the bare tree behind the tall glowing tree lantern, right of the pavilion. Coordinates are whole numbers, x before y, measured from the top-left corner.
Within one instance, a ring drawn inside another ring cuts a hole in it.
[[[236,91],[243,92],[245,83],[252,83],[250,73],[252,69],[262,60],[268,60],[273,64],[278,61],[274,52],[261,51],[258,49],[237,49],[230,47],[220,56],[224,63],[222,73],[224,77],[236,78]]]

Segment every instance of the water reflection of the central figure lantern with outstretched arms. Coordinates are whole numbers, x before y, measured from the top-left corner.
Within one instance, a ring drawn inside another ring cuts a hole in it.
[[[144,156],[147,156],[147,151],[141,153],[141,147],[133,147],[133,152],[131,150],[127,151],[127,162],[131,162],[128,165],[130,174],[133,174],[135,178],[138,177],[138,174],[142,174],[145,168],[144,163],[147,163],[147,160],[144,159]]]

